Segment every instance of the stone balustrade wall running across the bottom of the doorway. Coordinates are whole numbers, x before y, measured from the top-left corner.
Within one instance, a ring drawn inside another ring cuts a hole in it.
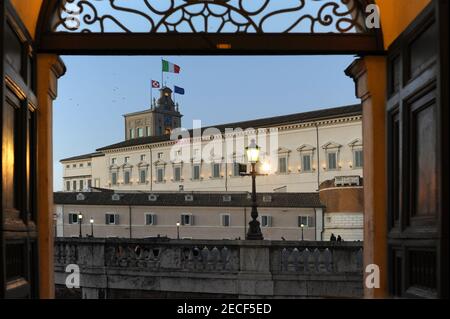
[[[56,238],[58,292],[69,264],[82,298],[363,295],[360,242]]]

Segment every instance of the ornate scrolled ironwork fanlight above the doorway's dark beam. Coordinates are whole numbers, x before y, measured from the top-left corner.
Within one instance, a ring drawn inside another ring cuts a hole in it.
[[[59,0],[51,32],[369,33],[366,0]]]

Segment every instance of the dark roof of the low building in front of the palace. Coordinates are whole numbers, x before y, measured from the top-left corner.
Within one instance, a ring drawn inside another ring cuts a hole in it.
[[[81,194],[84,195],[84,200],[77,200],[78,194],[80,193],[55,192],[54,202],[60,205],[251,207],[251,198],[245,192],[114,193],[119,195],[119,200],[113,200],[111,192],[83,192]],[[156,199],[150,200],[150,195],[155,195]],[[187,195],[192,195],[192,200],[186,200]],[[226,196],[231,197],[231,200],[225,200]],[[258,193],[257,201],[258,207],[323,207],[319,193]]]

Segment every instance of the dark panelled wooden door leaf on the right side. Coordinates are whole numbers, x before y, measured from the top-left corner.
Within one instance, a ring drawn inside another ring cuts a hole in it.
[[[446,294],[441,3],[433,1],[389,48],[388,260],[398,297]]]

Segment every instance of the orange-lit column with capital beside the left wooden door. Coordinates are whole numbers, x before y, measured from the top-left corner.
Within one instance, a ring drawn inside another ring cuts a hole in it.
[[[39,238],[39,296],[54,298],[53,271],[53,101],[58,78],[65,73],[53,54],[37,55],[37,211]]]

